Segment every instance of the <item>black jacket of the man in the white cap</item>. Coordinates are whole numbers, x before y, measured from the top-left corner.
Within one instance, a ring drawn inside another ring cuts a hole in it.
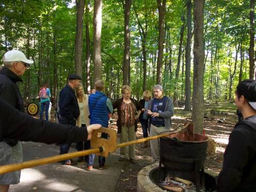
[[[23,100],[17,82],[22,82],[22,79],[10,69],[3,67],[0,71],[0,98],[19,111],[24,112]],[[15,146],[18,142],[13,139],[5,139],[4,141],[10,146]]]

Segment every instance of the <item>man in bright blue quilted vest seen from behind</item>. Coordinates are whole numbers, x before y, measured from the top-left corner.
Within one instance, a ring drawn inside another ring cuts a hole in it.
[[[98,80],[94,83],[95,93],[90,94],[89,97],[89,110],[90,110],[90,123],[91,124],[100,124],[102,127],[108,127],[109,113],[113,113],[113,106],[111,101],[103,94],[104,83],[101,80]],[[101,137],[107,138],[107,135],[102,135]],[[92,170],[93,159],[89,158],[87,162],[87,170]],[[105,157],[99,156],[99,170],[106,168],[105,166]]]

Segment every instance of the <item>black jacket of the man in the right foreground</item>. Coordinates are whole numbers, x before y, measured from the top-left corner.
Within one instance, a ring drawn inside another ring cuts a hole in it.
[[[218,191],[256,191],[256,116],[238,122],[229,136]]]

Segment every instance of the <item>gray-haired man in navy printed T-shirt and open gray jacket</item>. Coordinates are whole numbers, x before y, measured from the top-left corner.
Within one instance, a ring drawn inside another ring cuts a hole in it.
[[[149,116],[150,137],[170,131],[171,117],[174,114],[172,99],[163,95],[163,87],[155,85],[153,87],[154,98],[148,103],[146,114]],[[151,154],[154,161],[159,160],[159,140],[150,140]]]

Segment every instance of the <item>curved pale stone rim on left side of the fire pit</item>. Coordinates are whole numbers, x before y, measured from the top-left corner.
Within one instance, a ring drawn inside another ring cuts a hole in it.
[[[159,163],[154,163],[143,167],[138,173],[137,179],[137,191],[138,192],[167,192],[158,187],[151,179],[149,178],[149,172],[155,167],[158,167]]]

